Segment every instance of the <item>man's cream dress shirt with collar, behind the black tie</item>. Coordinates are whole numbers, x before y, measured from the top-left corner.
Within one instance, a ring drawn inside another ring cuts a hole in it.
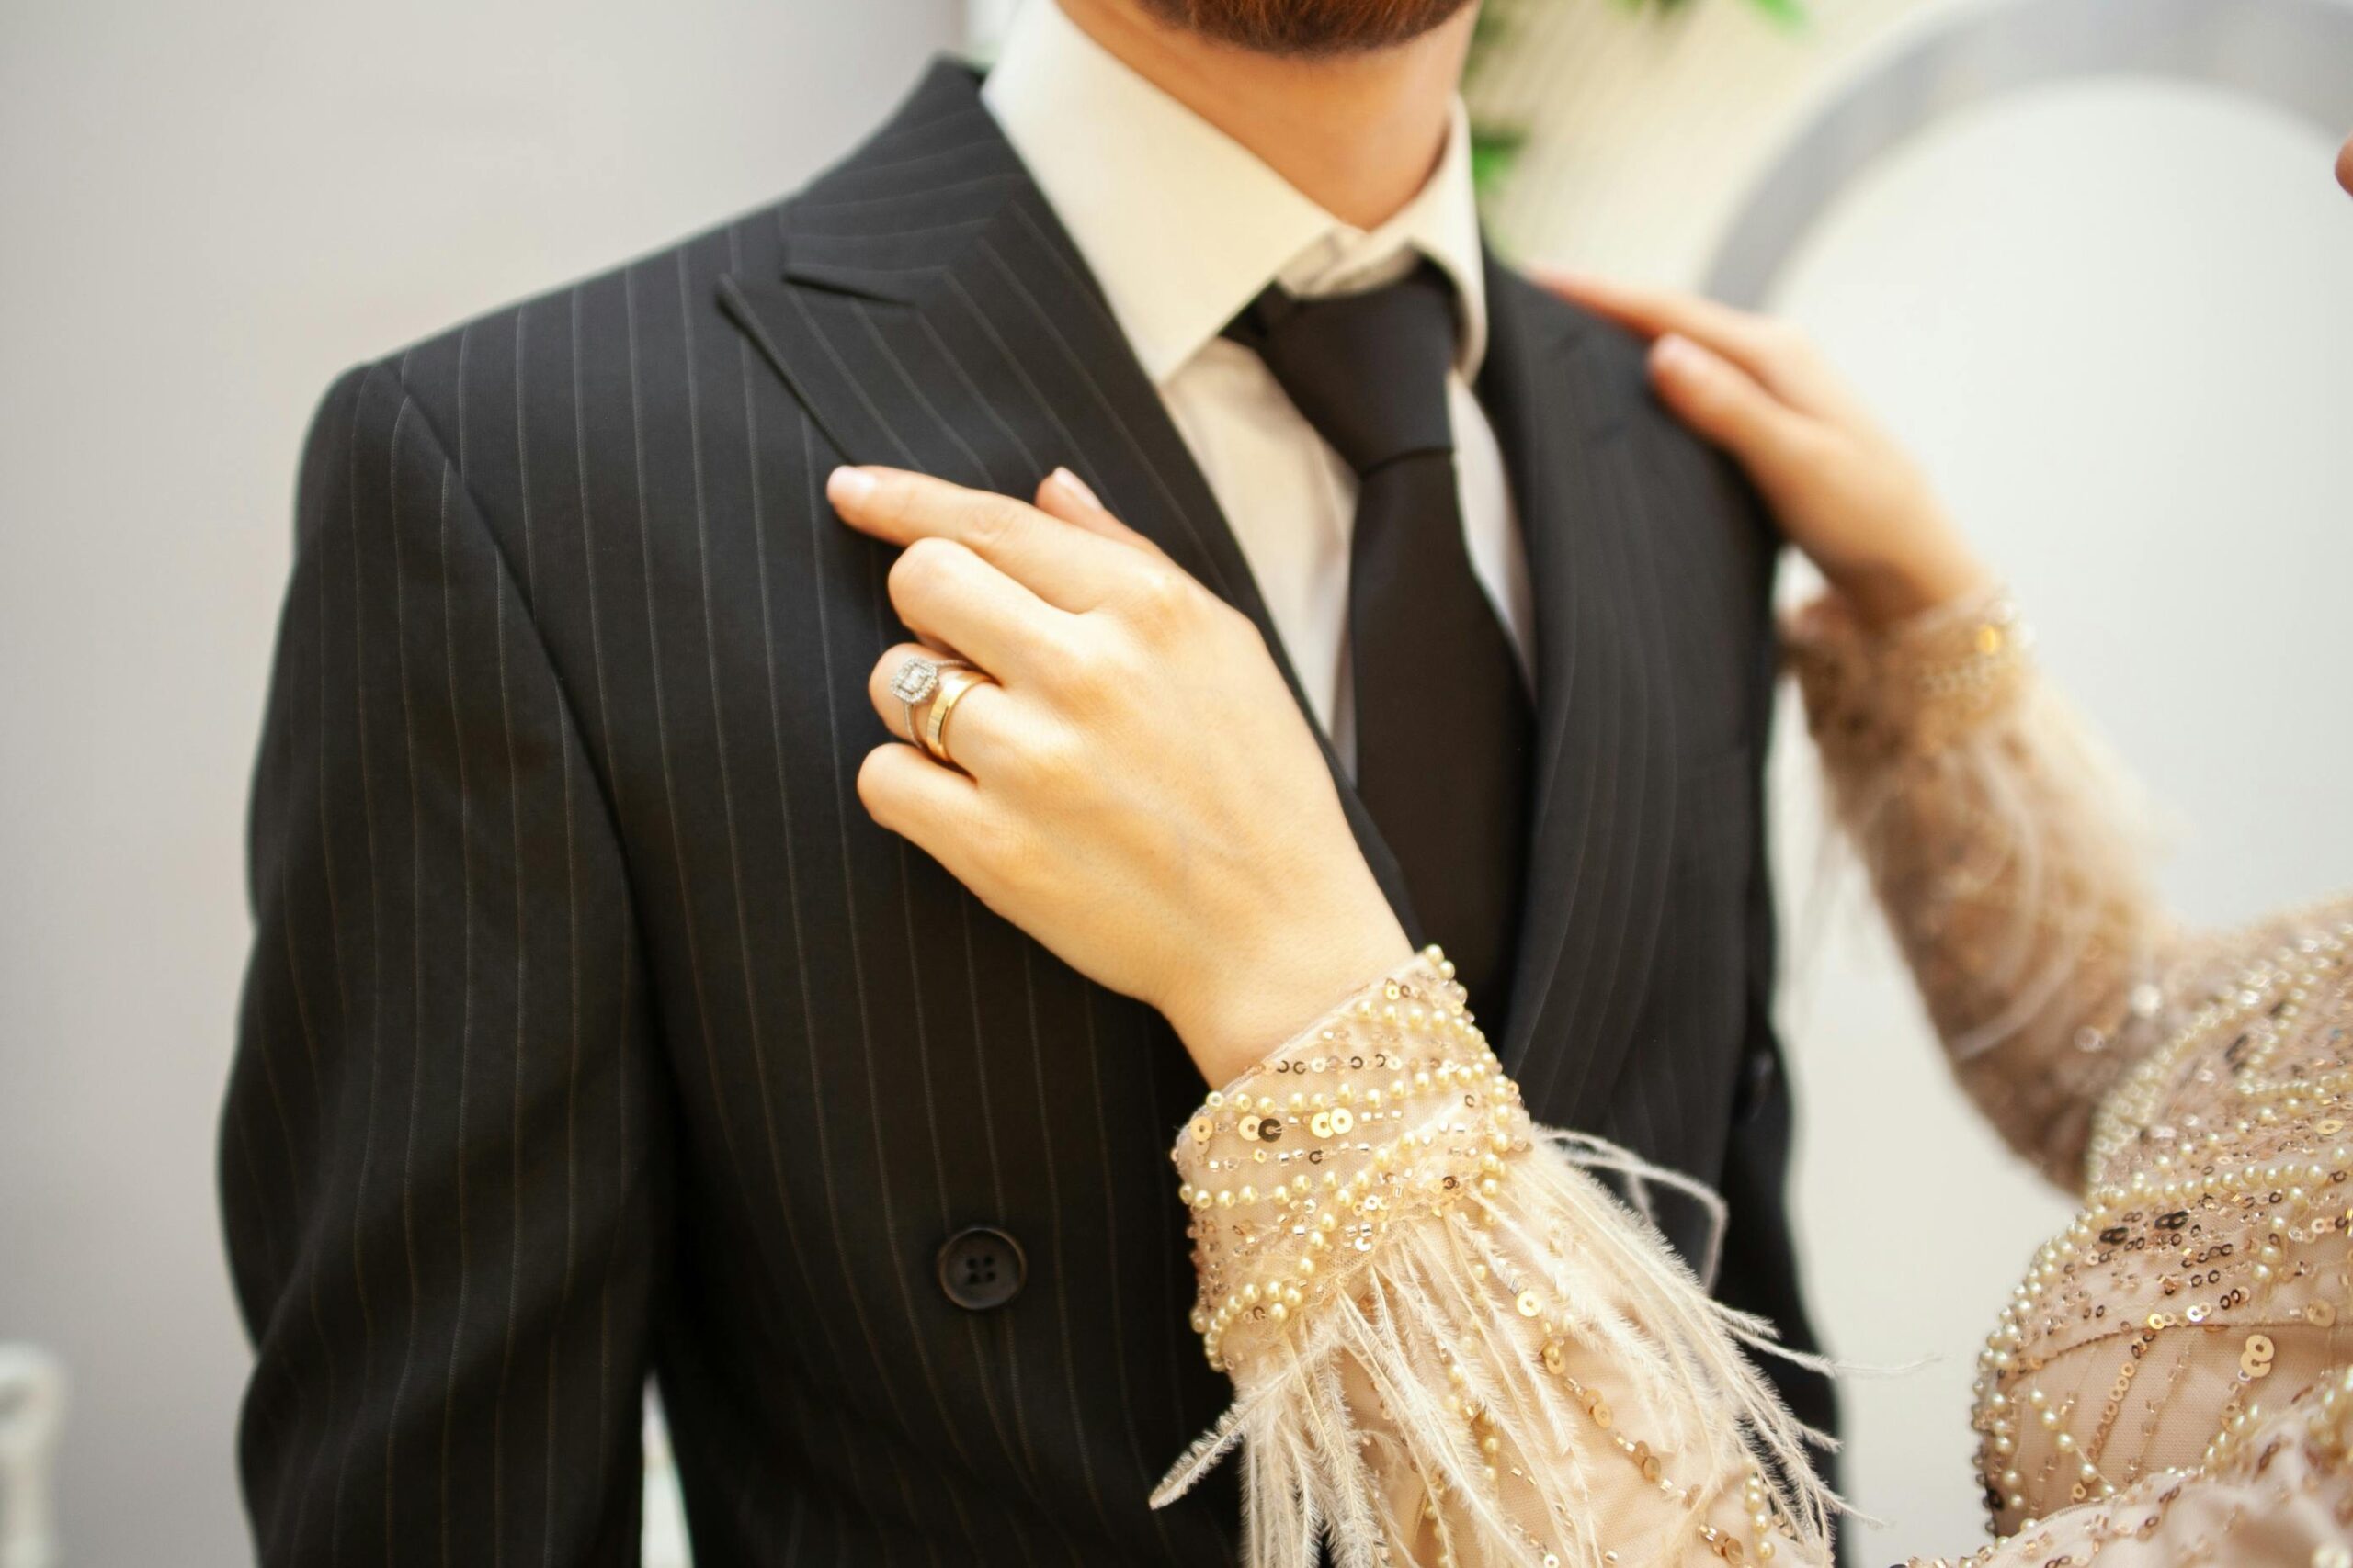
[[[1471,569],[1529,668],[1534,609],[1504,454],[1471,383],[1487,353],[1487,284],[1471,136],[1454,106],[1421,193],[1365,233],[1136,75],[1054,0],[1014,16],[981,101],[1104,284],[1111,313],[1167,404],[1242,545],[1315,719],[1355,748],[1348,684],[1348,538],[1355,475],[1299,416],[1254,353],[1219,334],[1271,282],[1346,294],[1393,282],[1417,256],[1452,277],[1461,353],[1449,378]]]

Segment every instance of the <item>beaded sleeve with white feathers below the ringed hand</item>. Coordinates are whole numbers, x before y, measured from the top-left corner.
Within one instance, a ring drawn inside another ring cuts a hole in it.
[[[1584,1168],[1628,1157],[1527,1119],[1464,1004],[1426,952],[1179,1133],[1235,1401],[1153,1502],[1240,1446],[1252,1568],[1826,1561],[1769,1331]]]

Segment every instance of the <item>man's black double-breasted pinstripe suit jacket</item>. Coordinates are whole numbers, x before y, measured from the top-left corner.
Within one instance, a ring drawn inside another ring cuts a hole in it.
[[[1541,708],[1508,1065],[1541,1119],[1725,1180],[1725,1293],[1802,1340],[1774,541],[1628,341],[1492,299]],[[708,1568],[1231,1559],[1231,1486],[1144,1505],[1226,1394],[1167,1168],[1202,1084],[859,809],[901,632],[821,498],[845,458],[1071,463],[1266,625],[955,66],[784,205],[327,395],[221,1135],[264,1561],[633,1561],[649,1371]],[[993,1312],[934,1269],[976,1222],[1028,1260]]]

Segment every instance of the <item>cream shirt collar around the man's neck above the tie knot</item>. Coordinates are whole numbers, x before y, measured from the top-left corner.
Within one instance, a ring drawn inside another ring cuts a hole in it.
[[[1054,0],[1028,0],[981,85],[1111,301],[1155,386],[1224,331],[1268,282],[1344,294],[1428,256],[1454,282],[1457,367],[1487,353],[1487,277],[1471,134],[1457,99],[1428,183],[1381,228],[1339,221],[1249,148],[1139,75]]]

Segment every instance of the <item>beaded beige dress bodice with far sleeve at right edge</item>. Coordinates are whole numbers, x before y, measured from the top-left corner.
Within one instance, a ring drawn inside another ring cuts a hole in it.
[[[2134,792],[2000,599],[1875,637],[1824,602],[1791,656],[1960,1081],[2085,1197],[1979,1359],[1979,1476],[2009,1540],[1967,1561],[2339,1561],[2313,1547],[2353,1540],[2341,1441],[2299,1446],[2289,1420],[2259,1443],[2268,1476],[2231,1465],[2266,1392],[2318,1389],[2299,1410],[2341,1439],[2353,900],[2167,922]]]

